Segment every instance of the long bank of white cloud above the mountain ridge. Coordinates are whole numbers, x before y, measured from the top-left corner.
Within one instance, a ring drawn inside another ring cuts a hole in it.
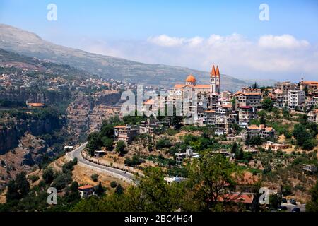
[[[158,35],[144,41],[95,41],[83,46],[89,52],[204,71],[218,64],[221,73],[238,78],[297,81],[302,76],[318,77],[318,46],[292,35],[264,35],[256,41],[239,34],[191,38]]]

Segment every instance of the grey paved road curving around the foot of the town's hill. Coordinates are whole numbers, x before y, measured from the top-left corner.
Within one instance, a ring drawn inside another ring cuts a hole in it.
[[[89,162],[88,160],[84,160],[81,152],[83,151],[83,149],[86,147],[87,142],[83,143],[81,146],[79,146],[78,148],[72,150],[70,153],[66,153],[67,157],[70,157],[71,159],[73,158],[77,158],[77,161],[80,162],[82,165],[85,165],[86,167],[89,167],[90,169],[98,169],[101,172],[105,172],[108,174],[112,174],[112,176],[117,177],[119,179],[124,179],[126,180],[126,182],[134,182],[134,174],[131,174],[129,172],[125,172],[121,169],[114,169],[112,167],[105,167],[103,165],[98,165],[96,163],[93,162]]]

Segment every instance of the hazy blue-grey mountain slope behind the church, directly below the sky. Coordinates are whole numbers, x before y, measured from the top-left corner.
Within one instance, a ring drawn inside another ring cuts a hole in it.
[[[143,64],[62,47],[42,40],[32,32],[4,24],[0,24],[0,48],[59,64],[69,64],[102,78],[115,78],[146,85],[171,87],[174,83],[183,83],[189,73],[196,76],[198,83],[207,83],[209,78],[209,73],[204,71],[162,64]],[[221,83],[223,90],[237,90],[249,85],[245,81],[226,75],[222,76]]]

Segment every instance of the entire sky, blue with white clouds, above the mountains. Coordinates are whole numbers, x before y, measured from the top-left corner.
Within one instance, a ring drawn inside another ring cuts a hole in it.
[[[57,6],[57,20],[47,20],[48,4]],[[261,4],[269,20],[260,20]],[[318,81],[317,0],[0,0],[0,23],[134,61]]]

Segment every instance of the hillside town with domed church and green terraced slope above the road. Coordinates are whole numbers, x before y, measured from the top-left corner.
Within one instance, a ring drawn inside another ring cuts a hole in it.
[[[244,169],[244,177],[218,202],[244,203],[245,210],[254,211],[256,184],[261,183],[271,196],[283,197],[271,208],[305,211],[306,188],[314,186],[317,174],[318,82],[255,83],[231,93],[221,91],[218,66],[212,67],[210,79],[208,85],[197,85],[189,75],[165,97],[144,100],[150,117],[120,115],[105,121],[88,137],[83,160],[139,175],[160,167],[165,183],[173,184],[187,181],[187,165],[201,155],[223,155]],[[170,103],[181,107],[179,115],[159,113]]]

